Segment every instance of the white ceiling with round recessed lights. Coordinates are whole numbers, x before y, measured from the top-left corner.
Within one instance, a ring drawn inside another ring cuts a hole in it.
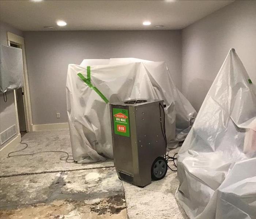
[[[52,30],[174,30],[211,14],[233,1],[82,1],[1,0],[0,20],[22,31]],[[67,26],[58,27],[57,20]],[[151,26],[143,26],[145,20]],[[156,25],[164,25],[155,28]],[[47,29],[49,30],[49,29]]]

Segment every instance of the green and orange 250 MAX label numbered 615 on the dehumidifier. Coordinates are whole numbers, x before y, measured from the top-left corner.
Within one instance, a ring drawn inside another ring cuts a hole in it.
[[[130,137],[128,110],[113,108],[114,134]]]

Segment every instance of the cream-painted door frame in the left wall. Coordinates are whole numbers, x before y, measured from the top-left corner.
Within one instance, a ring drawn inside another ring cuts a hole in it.
[[[25,42],[24,38],[20,37],[11,32],[7,32],[7,41],[8,46],[10,43],[15,43],[19,45],[22,49],[23,56],[23,79],[24,79],[24,87],[23,87],[23,105],[25,110],[25,120],[26,120],[26,130],[27,132],[32,131],[33,122],[32,122],[32,112],[31,112],[31,102],[30,102],[30,92],[29,92],[29,79],[27,76],[27,62],[26,62],[26,53],[25,53]],[[17,100],[16,100],[16,92],[14,91],[14,100],[15,100],[15,111],[16,111],[16,124],[17,124],[17,132],[19,133],[19,118],[18,118],[18,108],[17,108]]]

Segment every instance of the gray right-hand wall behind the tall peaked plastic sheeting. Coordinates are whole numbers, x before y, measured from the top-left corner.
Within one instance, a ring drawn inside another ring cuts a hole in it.
[[[198,111],[229,52],[256,83],[256,1],[235,1],[182,30],[182,93]]]

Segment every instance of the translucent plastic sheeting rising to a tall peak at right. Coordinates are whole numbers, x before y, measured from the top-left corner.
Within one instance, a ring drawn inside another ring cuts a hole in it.
[[[234,49],[177,160],[176,198],[191,219],[256,217],[255,85]]]

